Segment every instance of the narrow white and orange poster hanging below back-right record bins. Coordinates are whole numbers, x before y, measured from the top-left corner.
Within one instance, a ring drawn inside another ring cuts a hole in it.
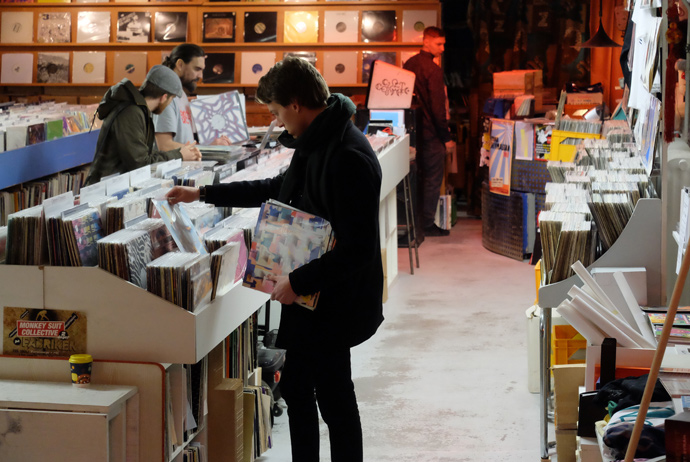
[[[491,119],[489,191],[504,196],[510,196],[514,128],[512,120]]]

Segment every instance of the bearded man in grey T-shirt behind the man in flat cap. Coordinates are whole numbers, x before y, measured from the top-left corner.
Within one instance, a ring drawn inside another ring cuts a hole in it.
[[[187,95],[196,91],[206,67],[206,54],[199,45],[183,43],[173,48],[163,60],[163,65],[179,76],[184,89],[182,95],[176,97],[160,115],[153,117],[158,149],[166,151],[196,143],[196,128]],[[228,146],[230,139],[223,135],[211,144]]]

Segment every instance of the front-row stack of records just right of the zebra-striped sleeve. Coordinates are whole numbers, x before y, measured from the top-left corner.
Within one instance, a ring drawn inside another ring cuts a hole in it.
[[[195,312],[211,300],[210,262],[207,253],[169,252],[147,265],[147,290]]]

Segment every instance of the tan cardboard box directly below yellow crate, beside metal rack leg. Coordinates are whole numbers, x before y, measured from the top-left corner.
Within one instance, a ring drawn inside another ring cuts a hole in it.
[[[557,430],[577,430],[578,388],[585,383],[584,364],[553,366],[555,423]],[[573,449],[573,454],[575,450]],[[558,458],[560,462],[560,455]]]

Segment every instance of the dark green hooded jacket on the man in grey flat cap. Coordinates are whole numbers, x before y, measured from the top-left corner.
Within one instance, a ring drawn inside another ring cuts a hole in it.
[[[98,118],[103,120],[96,145],[100,150],[97,148],[94,155],[87,185],[113,173],[182,157],[179,149],[163,152],[154,148],[156,132],[151,111],[139,90],[127,79],[105,93],[98,106]]]

